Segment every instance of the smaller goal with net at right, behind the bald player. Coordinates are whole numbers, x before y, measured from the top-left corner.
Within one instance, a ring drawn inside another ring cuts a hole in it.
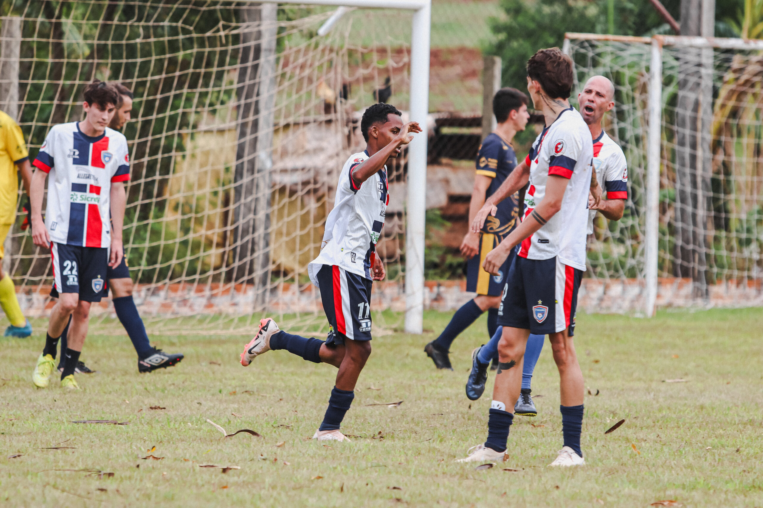
[[[613,81],[604,128],[628,161],[623,219],[597,216],[589,241],[588,307],[651,314],[650,290],[658,306],[763,304],[763,41],[567,34],[565,50],[575,93]]]

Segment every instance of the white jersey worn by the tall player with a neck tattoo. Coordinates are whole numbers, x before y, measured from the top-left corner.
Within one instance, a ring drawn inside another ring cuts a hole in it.
[[[546,196],[549,174],[569,178],[562,209],[538,231],[522,241],[519,255],[544,260],[558,256],[567,266],[585,270],[585,232],[588,192],[591,189],[591,131],[575,108],[559,113],[538,135],[525,162],[530,166],[530,187],[525,193],[526,218]]]

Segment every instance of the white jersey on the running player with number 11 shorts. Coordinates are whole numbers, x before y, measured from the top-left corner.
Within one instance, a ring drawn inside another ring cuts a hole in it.
[[[307,265],[307,274],[315,286],[318,286],[316,274],[324,264],[372,279],[376,243],[387,216],[389,186],[386,166],[360,187],[356,186],[353,171],[367,158],[365,150],[350,155],[340,172],[320,254]]]

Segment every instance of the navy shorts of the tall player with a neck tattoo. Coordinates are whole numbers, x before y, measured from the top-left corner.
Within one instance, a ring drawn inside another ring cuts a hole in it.
[[[558,257],[535,260],[516,256],[509,268],[498,324],[547,335],[575,335],[575,311],[583,271]]]

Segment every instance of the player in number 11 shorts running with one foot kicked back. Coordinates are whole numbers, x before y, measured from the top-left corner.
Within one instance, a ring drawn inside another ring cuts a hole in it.
[[[241,353],[241,365],[269,350],[287,350],[314,363],[338,367],[329,407],[314,439],[349,441],[340,424],[355,397],[355,385],[371,354],[371,284],[384,280],[376,242],[389,203],[386,163],[400,155],[421,128],[403,124],[390,104],[374,104],[363,113],[360,129],[365,150],[350,155],[340,172],[334,207],[326,219],[320,254],[307,267],[330,324],[327,340],[287,334],[271,318],[262,319],[256,336]]]

